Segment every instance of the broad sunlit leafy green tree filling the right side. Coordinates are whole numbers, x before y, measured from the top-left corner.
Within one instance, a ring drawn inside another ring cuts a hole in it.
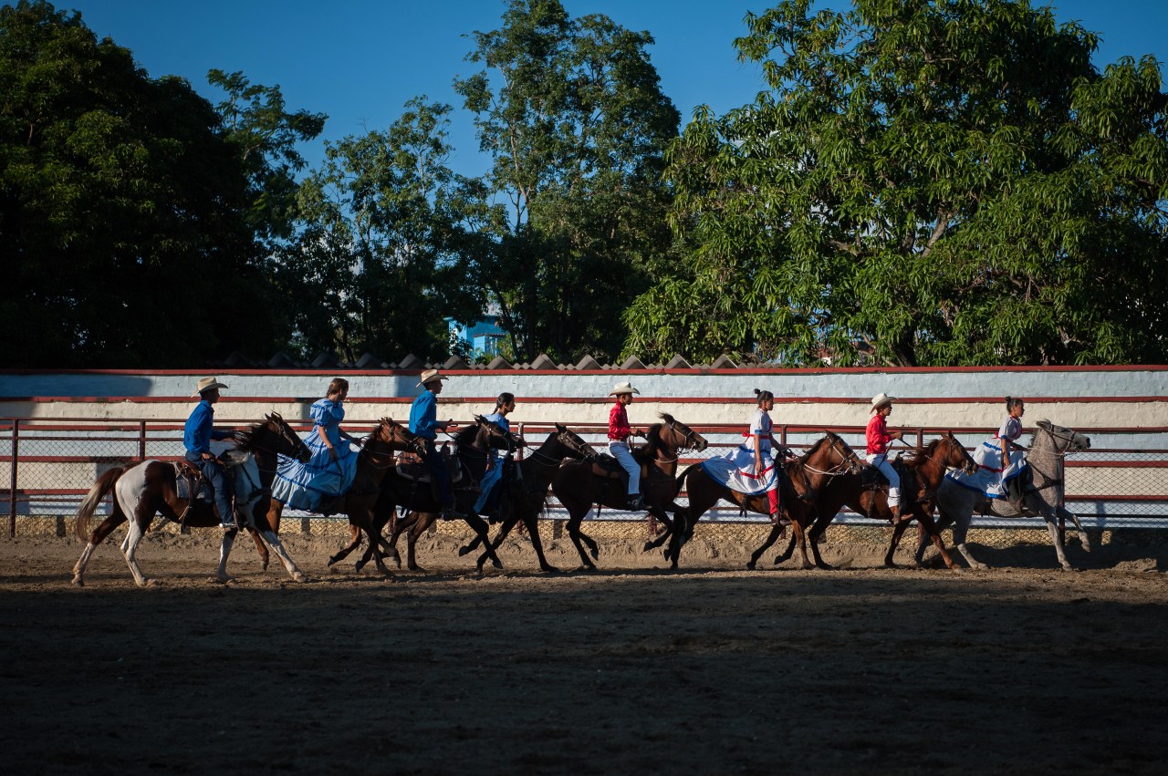
[[[767,91],[670,149],[682,258],[628,347],[814,363],[1162,361],[1160,65],[1007,0],[788,0]],[[688,345],[688,347],[687,347]]]

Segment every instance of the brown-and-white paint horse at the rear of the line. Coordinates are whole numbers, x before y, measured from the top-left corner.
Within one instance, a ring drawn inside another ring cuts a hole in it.
[[[272,480],[276,476],[276,456],[290,455],[307,461],[312,453],[284,418],[274,412],[266,415],[263,422],[255,424],[245,431],[237,431],[232,436],[236,448],[224,453],[224,456],[228,457],[228,466],[234,469],[236,513],[242,518],[241,523],[249,524],[249,527],[253,526],[256,533],[263,534],[288,575],[303,582],[306,579],[304,573],[284,550],[276,531],[264,519],[264,512],[267,510]],[[111,491],[114,498],[110,516],[86,536],[90,518]],[[74,583],[84,586],[85,567],[93,550],[113,529],[126,520],[130,522],[130,527],[121,541],[121,553],[130,566],[130,573],[133,574],[138,587],[153,583],[142,574],[135,554],[142,536],[158,512],[182,525],[211,527],[221,523],[214,504],[199,498],[179,498],[174,463],[139,461],[130,466],[113,467],[98,477],[77,511],[77,536],[85,540],[86,545],[77,565],[74,566]],[[215,572],[215,578],[221,582],[231,580],[227,573],[227,559],[231,553],[236,533],[235,530],[223,533],[220,565]]]

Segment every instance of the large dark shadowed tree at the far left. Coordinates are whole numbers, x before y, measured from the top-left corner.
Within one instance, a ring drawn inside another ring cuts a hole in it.
[[[77,13],[0,7],[5,364],[178,366],[270,347],[249,196],[187,82],[150,78]]]

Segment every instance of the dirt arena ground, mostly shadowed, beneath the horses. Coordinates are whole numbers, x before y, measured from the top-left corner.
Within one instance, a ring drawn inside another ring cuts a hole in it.
[[[994,568],[955,573],[839,543],[840,571],[750,572],[750,530],[700,527],[681,573],[609,538],[599,572],[555,576],[523,540],[479,576],[439,533],[392,580],[291,534],[307,583],[237,543],[230,585],[214,532],[154,533],[147,589],[120,532],[84,588],[76,539],[0,539],[5,771],[1168,771],[1163,546],[1072,543],[1062,572],[974,544]]]

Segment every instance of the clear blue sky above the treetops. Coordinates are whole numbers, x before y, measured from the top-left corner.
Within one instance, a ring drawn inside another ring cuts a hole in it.
[[[662,91],[686,120],[701,104],[724,113],[753,99],[762,78],[737,62],[753,0],[563,0],[572,16],[602,13],[630,29],[648,30]],[[839,0],[830,5],[842,5]],[[1034,0],[1059,21],[1077,20],[1103,41],[1096,64],[1152,54],[1168,62],[1166,0]],[[209,98],[211,68],[242,70],[252,83],[279,85],[290,110],[326,113],[325,132],[305,144],[310,165],[324,141],[384,128],[408,99],[426,95],[460,109],[451,82],[477,71],[465,62],[473,30],[499,27],[501,0],[56,0],[75,8],[98,37],[131,49],[151,76],[178,75]],[[482,173],[471,114],[451,121],[451,167]]]

